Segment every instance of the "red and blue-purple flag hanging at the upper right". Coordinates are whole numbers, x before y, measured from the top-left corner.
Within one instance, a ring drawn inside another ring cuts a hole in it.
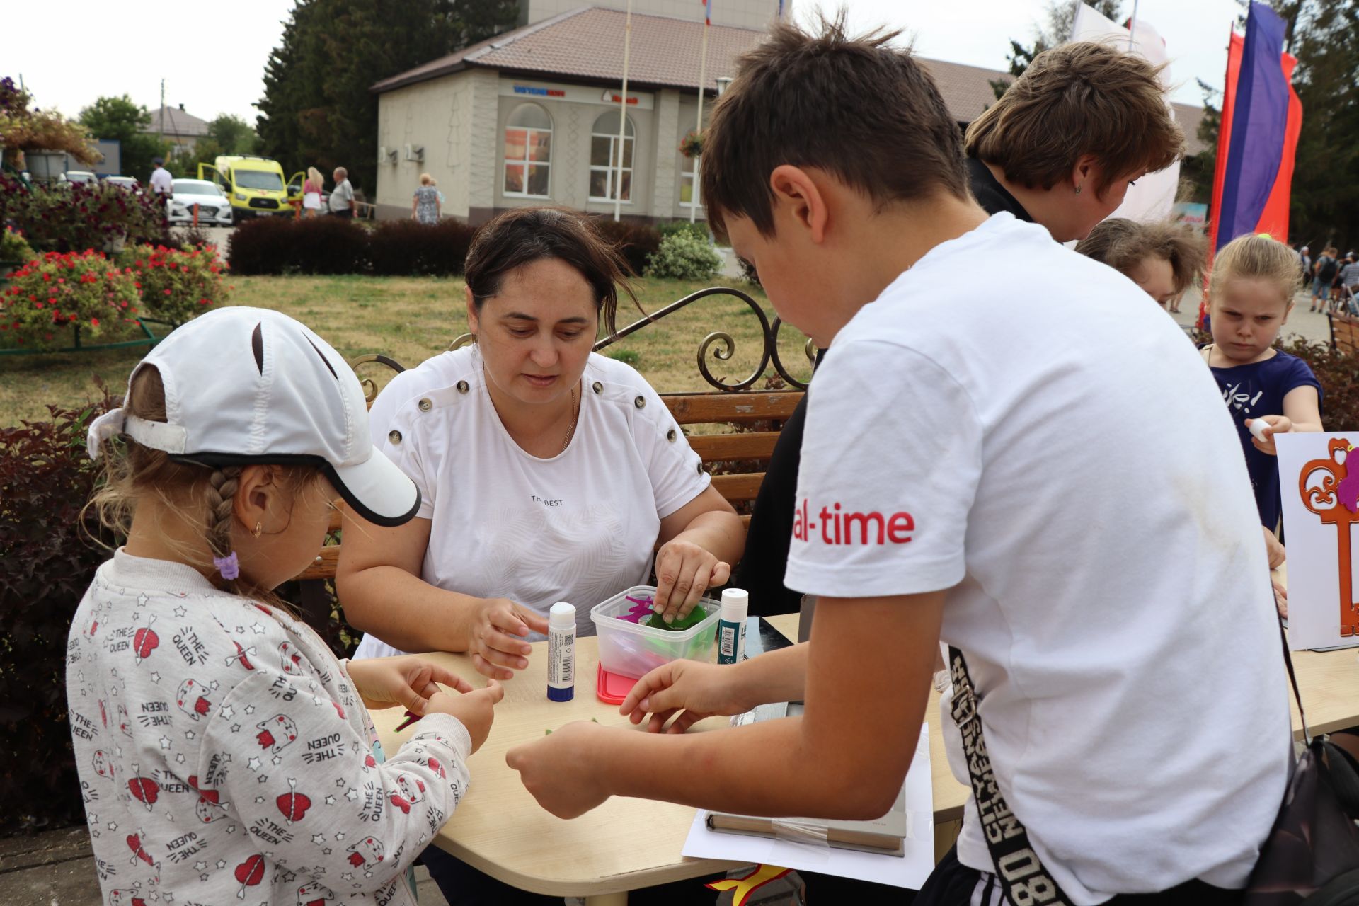
[[[1292,90],[1298,60],[1283,53],[1283,19],[1264,3],[1250,4],[1245,37],[1231,34],[1212,179],[1214,253],[1248,232],[1288,242],[1302,103]]]

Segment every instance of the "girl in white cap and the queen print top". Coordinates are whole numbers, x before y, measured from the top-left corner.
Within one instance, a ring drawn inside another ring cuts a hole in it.
[[[353,372],[285,315],[223,308],[133,369],[88,444],[107,463],[91,505],[126,534],[67,659],[105,895],[413,903],[406,869],[503,691],[417,657],[338,662],[269,591],[310,562],[337,497],[387,526],[419,508],[368,441]],[[381,762],[367,708],[394,705],[424,720]]]

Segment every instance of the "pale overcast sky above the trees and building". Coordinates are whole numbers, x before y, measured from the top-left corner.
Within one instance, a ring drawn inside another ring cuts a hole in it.
[[[390,0],[400,1],[400,0]],[[587,3],[588,0],[583,0]],[[713,0],[720,18],[723,0]],[[771,0],[773,5],[773,0]],[[815,4],[794,0],[799,16]],[[938,60],[1003,69],[1010,38],[1025,42],[1042,18],[1044,0],[852,0],[851,24],[904,29],[917,53]],[[99,95],[128,94],[148,110],[183,105],[204,120],[232,113],[251,125],[264,94],[264,65],[279,43],[292,0],[236,0],[231,27],[222,7],[178,3],[159,7],[155,24],[132,12],[109,15],[106,0],[67,0],[61,29],[0,29],[0,76],[24,83],[39,107],[68,115]],[[1137,15],[1166,39],[1176,101],[1201,103],[1195,79],[1222,87],[1227,31],[1241,7],[1235,0],[1139,0]],[[1125,0],[1125,12],[1132,0]],[[694,0],[694,18],[701,7]]]

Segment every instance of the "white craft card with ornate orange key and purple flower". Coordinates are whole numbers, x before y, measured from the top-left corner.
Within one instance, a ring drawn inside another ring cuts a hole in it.
[[[1359,431],[1276,439],[1288,647],[1359,645]]]

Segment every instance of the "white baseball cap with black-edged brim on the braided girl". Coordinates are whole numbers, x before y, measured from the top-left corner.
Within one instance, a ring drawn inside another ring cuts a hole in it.
[[[318,467],[360,516],[400,526],[420,490],[368,439],[368,409],[353,369],[330,344],[277,311],[227,307],[177,327],[128,378],[155,365],[166,421],[122,409],[90,425],[98,458],[122,433],[178,462]]]

